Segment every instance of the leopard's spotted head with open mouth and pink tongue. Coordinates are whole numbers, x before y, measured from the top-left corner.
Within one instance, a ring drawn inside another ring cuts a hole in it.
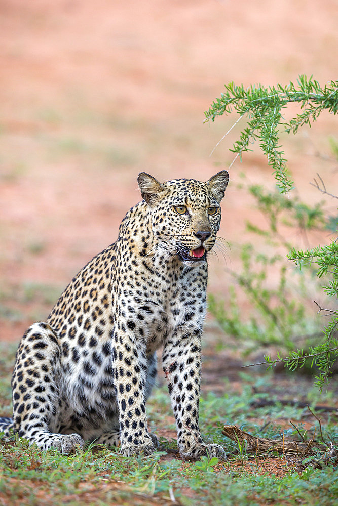
[[[219,203],[229,182],[228,172],[220,171],[205,183],[195,179],[160,183],[145,172],[137,181],[152,215],[156,241],[184,263],[206,261],[220,226]]]

